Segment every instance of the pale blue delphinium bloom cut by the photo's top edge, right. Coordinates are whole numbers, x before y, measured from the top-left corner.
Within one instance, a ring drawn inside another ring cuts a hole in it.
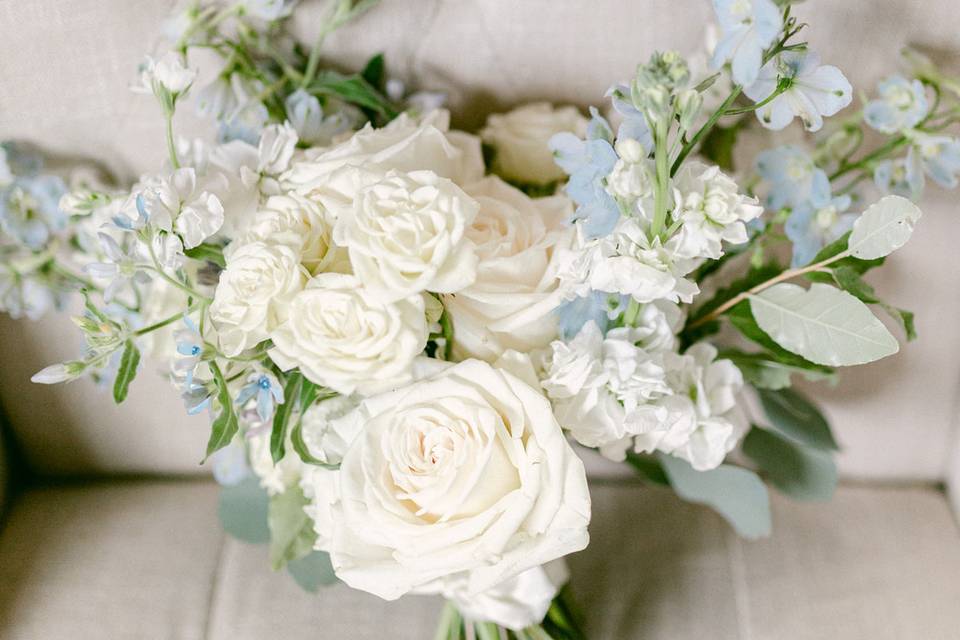
[[[713,0],[713,9],[721,31],[713,67],[732,60],[733,81],[749,86],[757,79],[764,50],[783,26],[780,10],[772,0]]]

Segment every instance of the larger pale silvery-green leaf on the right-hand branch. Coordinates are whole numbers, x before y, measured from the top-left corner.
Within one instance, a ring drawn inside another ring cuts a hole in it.
[[[864,364],[900,349],[865,304],[830,285],[777,284],[750,296],[750,310],[777,344],[817,364]]]

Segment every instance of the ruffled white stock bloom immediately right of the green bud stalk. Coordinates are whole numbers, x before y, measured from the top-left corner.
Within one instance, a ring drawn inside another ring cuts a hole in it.
[[[760,216],[763,207],[756,198],[741,195],[737,183],[720,167],[690,161],[673,179],[675,220],[681,220],[678,255],[711,258],[723,255],[723,241],[747,241],[744,224]]]

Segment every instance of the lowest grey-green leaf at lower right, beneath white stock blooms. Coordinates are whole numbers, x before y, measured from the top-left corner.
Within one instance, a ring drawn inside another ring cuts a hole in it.
[[[757,474],[727,464],[697,471],[680,458],[666,454],[658,457],[681,498],[710,507],[744,538],[770,535],[770,496]]]

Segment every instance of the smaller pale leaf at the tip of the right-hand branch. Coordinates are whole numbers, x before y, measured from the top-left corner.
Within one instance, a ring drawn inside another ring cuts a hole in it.
[[[907,243],[919,219],[919,207],[906,198],[880,198],[853,223],[847,250],[861,260],[889,255]]]

